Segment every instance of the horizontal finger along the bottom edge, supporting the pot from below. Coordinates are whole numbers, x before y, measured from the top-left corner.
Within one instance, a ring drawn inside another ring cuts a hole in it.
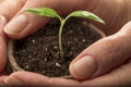
[[[73,86],[79,83],[71,79],[49,78],[40,74],[29,72],[16,72],[5,78],[4,83],[9,86],[44,86],[44,87],[58,87],[58,86]]]

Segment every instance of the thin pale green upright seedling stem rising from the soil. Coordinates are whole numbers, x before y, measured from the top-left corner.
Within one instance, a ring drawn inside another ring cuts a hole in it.
[[[59,50],[60,50],[60,57],[63,58],[63,49],[62,49],[62,28],[64,25],[64,21],[61,20],[61,25],[59,29]]]

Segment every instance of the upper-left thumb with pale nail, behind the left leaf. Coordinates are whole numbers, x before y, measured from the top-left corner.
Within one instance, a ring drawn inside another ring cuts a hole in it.
[[[47,23],[47,18],[24,12],[27,9],[46,5],[46,1],[27,0],[16,15],[4,26],[4,33],[14,39],[26,37]],[[50,4],[49,4],[50,5]]]

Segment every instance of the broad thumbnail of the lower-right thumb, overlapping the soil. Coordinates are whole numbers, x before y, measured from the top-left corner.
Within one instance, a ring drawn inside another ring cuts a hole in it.
[[[93,57],[84,57],[70,66],[70,73],[79,79],[90,78],[97,71],[97,63]]]

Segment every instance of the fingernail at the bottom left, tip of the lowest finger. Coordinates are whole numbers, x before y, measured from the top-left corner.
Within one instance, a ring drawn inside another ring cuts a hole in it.
[[[4,83],[10,86],[23,86],[24,84],[22,80],[14,76],[9,76],[8,78],[4,79]]]

